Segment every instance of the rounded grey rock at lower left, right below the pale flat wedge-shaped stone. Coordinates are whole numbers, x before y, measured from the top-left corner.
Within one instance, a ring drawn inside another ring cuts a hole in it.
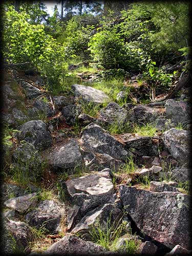
[[[53,200],[40,202],[25,216],[25,221],[34,227],[44,227],[48,231],[58,233],[61,231],[60,221],[63,209]]]

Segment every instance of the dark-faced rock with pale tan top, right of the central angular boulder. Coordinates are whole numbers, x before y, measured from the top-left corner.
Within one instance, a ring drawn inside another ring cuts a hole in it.
[[[126,149],[132,147],[144,156],[158,155],[158,145],[156,143],[156,140],[151,137],[138,136],[137,134],[131,133],[125,133],[119,135],[119,137],[125,144]]]

